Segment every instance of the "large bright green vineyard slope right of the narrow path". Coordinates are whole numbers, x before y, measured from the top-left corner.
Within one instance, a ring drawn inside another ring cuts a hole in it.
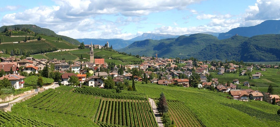
[[[176,126],[187,126],[188,122],[193,124],[192,126],[268,126],[267,123],[275,123],[275,121],[263,123],[259,118],[249,116],[247,113],[232,107],[221,105],[220,103],[242,104],[242,102],[228,99],[227,96],[229,95],[221,92],[197,88],[166,87],[153,85],[152,83],[141,84],[141,82],[136,83],[136,89],[137,93],[145,93],[152,99],[157,99],[160,93],[164,92],[167,100],[176,100],[171,104],[170,101],[167,102],[170,112],[173,111],[170,116],[171,119],[174,119]],[[271,104],[263,103],[262,105]],[[187,118],[188,114],[193,114],[194,119]],[[236,117],[237,114],[238,117]]]

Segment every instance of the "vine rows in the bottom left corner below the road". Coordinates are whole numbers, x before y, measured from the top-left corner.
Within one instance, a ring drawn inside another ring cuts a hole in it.
[[[42,121],[23,118],[17,115],[13,115],[0,111],[0,126],[55,126]]]

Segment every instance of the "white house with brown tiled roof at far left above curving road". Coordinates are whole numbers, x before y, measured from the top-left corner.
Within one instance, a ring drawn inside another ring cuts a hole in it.
[[[10,74],[5,75],[3,77],[0,77],[0,80],[3,80],[4,78],[7,78],[10,82],[12,87],[15,89],[23,88],[24,87],[24,76],[16,75],[16,74]]]

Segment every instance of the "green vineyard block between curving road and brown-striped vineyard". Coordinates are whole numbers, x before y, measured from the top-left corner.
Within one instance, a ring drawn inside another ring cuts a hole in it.
[[[27,106],[64,114],[93,117],[99,100],[92,95],[49,89],[23,102]]]

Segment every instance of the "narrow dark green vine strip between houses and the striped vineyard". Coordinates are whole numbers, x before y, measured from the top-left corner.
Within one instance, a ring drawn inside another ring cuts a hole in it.
[[[144,94],[132,94],[132,93],[116,93],[113,90],[107,90],[97,87],[77,87],[74,89],[74,92],[80,94],[89,94],[89,95],[97,95],[105,98],[112,99],[136,99],[136,100],[146,100]]]

